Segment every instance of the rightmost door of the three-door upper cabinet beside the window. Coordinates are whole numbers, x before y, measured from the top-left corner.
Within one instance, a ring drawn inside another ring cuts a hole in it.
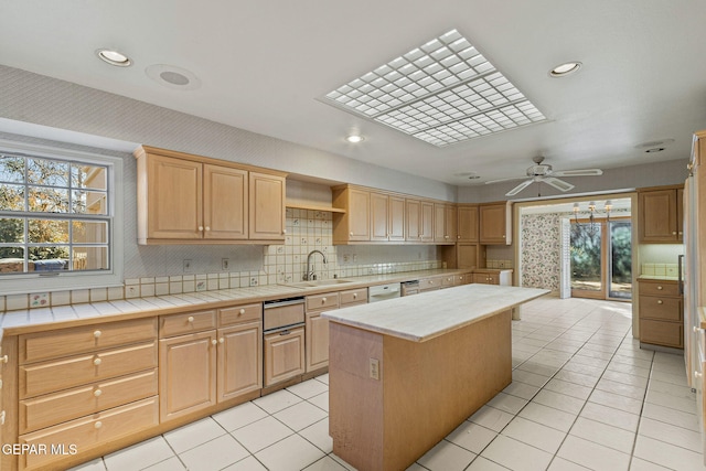
[[[249,196],[250,238],[284,240],[285,178],[250,172]]]

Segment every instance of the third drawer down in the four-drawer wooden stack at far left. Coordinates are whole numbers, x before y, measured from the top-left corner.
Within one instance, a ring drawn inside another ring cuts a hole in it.
[[[20,433],[157,395],[157,368],[20,400]]]

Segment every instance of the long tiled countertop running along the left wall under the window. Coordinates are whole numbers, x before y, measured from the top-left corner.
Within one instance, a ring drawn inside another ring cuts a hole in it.
[[[485,270],[477,269],[475,271]],[[25,309],[0,313],[0,340],[2,335],[41,332],[57,328],[94,324],[104,321],[138,319],[161,314],[181,313],[189,310],[217,309],[233,303],[263,302],[272,299],[343,291],[387,282],[416,280],[435,275],[466,274],[471,269],[431,269],[387,275],[368,275],[344,278],[351,282],[295,287],[292,285],[266,285],[249,288],[232,288],[214,291],[199,291],[151,298],[132,298],[83,304],[57,306],[51,308]],[[493,271],[503,271],[494,269]]]

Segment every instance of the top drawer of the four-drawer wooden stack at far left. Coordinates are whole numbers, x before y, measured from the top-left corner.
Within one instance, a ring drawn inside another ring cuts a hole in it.
[[[20,364],[157,338],[157,319],[136,319],[20,335]]]

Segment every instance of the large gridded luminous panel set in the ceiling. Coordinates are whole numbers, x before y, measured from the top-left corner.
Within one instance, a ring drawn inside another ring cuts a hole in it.
[[[546,120],[456,30],[340,86],[325,100],[437,147]]]

